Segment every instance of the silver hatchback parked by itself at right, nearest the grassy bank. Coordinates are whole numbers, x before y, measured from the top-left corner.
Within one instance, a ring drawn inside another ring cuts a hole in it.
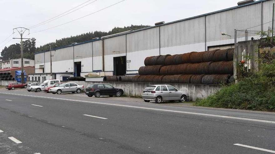
[[[156,103],[161,103],[165,100],[184,102],[189,100],[189,95],[186,92],[178,91],[170,85],[150,85],[143,90],[142,98],[145,102],[150,102],[151,100]]]

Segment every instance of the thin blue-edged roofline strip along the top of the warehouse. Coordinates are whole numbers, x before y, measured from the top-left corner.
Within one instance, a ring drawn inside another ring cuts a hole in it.
[[[122,33],[118,33],[118,34],[113,34],[112,36],[110,36],[108,38],[116,37],[116,36],[119,36],[119,35],[125,35],[125,34],[129,34],[129,33],[134,33],[136,31],[146,30],[146,29],[150,29],[150,28],[154,28],[154,27],[158,27],[158,26],[173,24],[173,23],[181,22],[181,21],[185,21],[185,20],[190,20],[190,19],[194,19],[194,18],[197,18],[197,17],[207,16],[207,15],[215,14],[215,13],[218,13],[218,12],[224,12],[224,11],[227,11],[227,10],[232,10],[232,9],[235,9],[235,8],[244,7],[244,6],[247,6],[247,5],[253,5],[253,4],[260,3],[260,2],[265,2],[265,1],[270,1],[270,0],[259,0],[259,1],[251,2],[251,3],[247,3],[247,4],[235,6],[235,7],[229,7],[229,8],[226,8],[226,9],[222,9],[222,10],[218,10],[218,11],[214,11],[214,12],[210,12],[210,13],[205,13],[205,14],[198,15],[198,16],[193,16],[193,17],[189,17],[189,18],[185,18],[185,19],[181,19],[181,20],[177,20],[177,21],[168,22],[168,23],[165,23],[165,24],[162,24],[162,25],[151,26],[151,27],[146,27],[146,28],[142,28],[142,29],[138,29],[138,30],[129,31],[129,32],[122,32]],[[93,41],[98,41],[98,40],[101,40],[101,39],[89,40],[89,41],[81,42],[81,43],[78,43],[78,44],[72,44],[72,45],[67,45],[67,46],[63,46],[63,47],[58,47],[58,48],[55,48],[55,49],[52,49],[52,50],[62,49],[62,48],[75,46],[75,45],[80,45],[80,44],[93,42]],[[47,52],[47,51],[41,51],[41,52],[37,52],[35,54],[39,54],[39,53],[43,53],[43,52]]]

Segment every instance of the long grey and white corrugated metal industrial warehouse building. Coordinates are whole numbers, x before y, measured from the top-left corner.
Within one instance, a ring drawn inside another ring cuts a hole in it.
[[[50,52],[39,52],[35,54],[35,74],[30,77],[66,80],[67,77],[84,77],[87,74],[136,74],[148,56],[232,48],[234,29],[261,31],[272,26],[274,2],[250,2],[53,49],[53,77],[49,74]]]

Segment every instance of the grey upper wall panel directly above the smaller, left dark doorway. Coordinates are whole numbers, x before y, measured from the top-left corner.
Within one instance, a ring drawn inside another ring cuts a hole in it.
[[[89,58],[92,57],[92,42],[74,46],[74,58]]]

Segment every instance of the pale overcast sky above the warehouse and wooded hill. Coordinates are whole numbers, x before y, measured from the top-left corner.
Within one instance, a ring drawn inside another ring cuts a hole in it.
[[[0,2],[0,42],[12,34],[13,28],[29,28],[54,16],[58,16],[86,1],[88,0],[2,0]],[[93,1],[94,0],[91,0],[85,4]],[[57,20],[36,28],[31,28],[31,34],[26,37],[36,38],[37,46],[40,46],[48,42],[54,42],[56,39],[89,31],[109,31],[113,27],[141,24],[153,26],[154,23],[159,21],[176,21],[228,7],[234,7],[237,6],[237,2],[241,0],[125,0],[117,5],[77,21],[50,30],[33,33],[72,21],[119,1],[121,0],[97,0]],[[17,33],[15,33],[14,37],[16,34]],[[16,37],[19,37],[19,35]],[[0,44],[1,51],[4,46],[9,46],[19,41],[12,39],[8,42],[11,38],[12,36]]]

